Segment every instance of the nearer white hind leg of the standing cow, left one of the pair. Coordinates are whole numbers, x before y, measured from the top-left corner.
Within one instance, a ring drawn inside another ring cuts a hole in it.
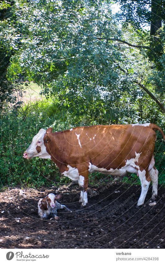
[[[138,170],[138,174],[141,183],[141,194],[137,202],[137,206],[140,206],[145,201],[145,197],[149,188],[150,178],[149,178],[148,169],[147,170],[143,169],[142,171]]]

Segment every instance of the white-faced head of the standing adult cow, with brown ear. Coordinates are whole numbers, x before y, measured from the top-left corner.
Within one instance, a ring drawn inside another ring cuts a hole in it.
[[[46,146],[50,143],[50,133],[52,128],[47,130],[41,128],[40,131],[33,137],[32,143],[24,152],[23,157],[25,159],[31,159],[33,157],[40,157],[42,159],[50,159],[51,155],[47,152]]]

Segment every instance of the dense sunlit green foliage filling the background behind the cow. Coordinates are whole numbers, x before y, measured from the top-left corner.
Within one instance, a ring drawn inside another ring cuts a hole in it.
[[[163,18],[162,27],[151,36],[140,26],[145,18],[147,23],[153,21],[146,6],[141,17],[143,1],[138,6],[134,1],[130,9],[129,1],[115,1],[121,4],[121,13],[115,16],[110,2],[13,0],[0,4],[3,14],[8,14],[0,23],[1,56],[7,58],[1,82],[7,88],[1,86],[0,96],[8,94],[1,96],[2,184],[44,184],[45,176],[54,177],[54,169],[57,174],[50,161],[35,159],[32,165],[22,158],[41,127],[62,130],[137,122],[164,127]],[[40,85],[47,99],[8,108],[4,101],[13,102],[20,76]],[[155,154],[163,183],[162,141],[157,141]]]

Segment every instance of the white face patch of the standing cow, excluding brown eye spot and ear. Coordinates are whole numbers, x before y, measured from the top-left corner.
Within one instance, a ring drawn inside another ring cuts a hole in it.
[[[44,145],[43,138],[45,136],[46,130],[41,128],[39,132],[33,137],[32,143],[27,148],[26,153],[29,158],[40,157],[41,159],[51,159],[51,155],[46,150],[46,146]],[[38,143],[38,141],[40,143]],[[38,153],[36,147],[40,146],[41,151]]]

